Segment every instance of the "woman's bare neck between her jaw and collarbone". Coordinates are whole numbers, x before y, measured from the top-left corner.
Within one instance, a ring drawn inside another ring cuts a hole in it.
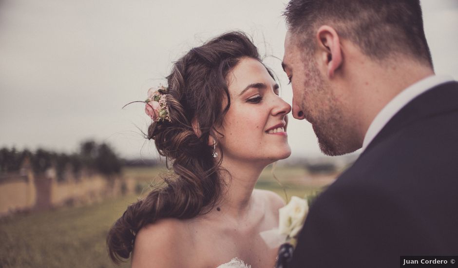
[[[226,187],[223,189],[221,201],[213,210],[234,218],[242,218],[250,209],[251,194],[265,166],[253,162],[226,160],[221,167],[229,174],[221,172]]]

